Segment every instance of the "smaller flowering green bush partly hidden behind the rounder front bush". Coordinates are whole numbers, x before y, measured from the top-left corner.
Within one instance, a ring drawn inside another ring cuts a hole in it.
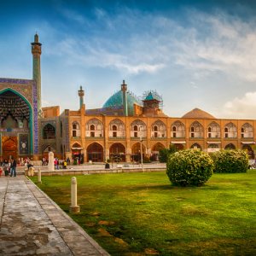
[[[245,150],[219,150],[212,153],[213,172],[247,172],[248,154]]]

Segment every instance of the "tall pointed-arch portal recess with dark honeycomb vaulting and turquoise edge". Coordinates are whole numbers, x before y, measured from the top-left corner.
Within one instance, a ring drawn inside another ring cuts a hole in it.
[[[0,93],[2,158],[24,158],[33,153],[32,108],[15,90]]]

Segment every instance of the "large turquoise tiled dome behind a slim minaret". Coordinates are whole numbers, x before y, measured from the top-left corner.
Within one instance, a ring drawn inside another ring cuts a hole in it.
[[[127,105],[128,105],[128,115],[133,115],[133,104],[141,105],[135,96],[131,95],[127,91]],[[123,92],[119,90],[113,96],[108,98],[108,101],[105,102],[102,108],[120,108],[123,106]]]

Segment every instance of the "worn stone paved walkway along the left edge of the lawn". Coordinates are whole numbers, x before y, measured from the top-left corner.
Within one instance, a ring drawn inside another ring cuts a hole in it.
[[[23,175],[0,177],[0,255],[109,255]]]

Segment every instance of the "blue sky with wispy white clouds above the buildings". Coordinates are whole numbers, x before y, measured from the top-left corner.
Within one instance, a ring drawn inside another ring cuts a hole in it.
[[[42,104],[102,108],[125,79],[163,111],[201,108],[256,119],[256,2],[235,0],[0,1],[0,77],[32,79],[42,43]]]

